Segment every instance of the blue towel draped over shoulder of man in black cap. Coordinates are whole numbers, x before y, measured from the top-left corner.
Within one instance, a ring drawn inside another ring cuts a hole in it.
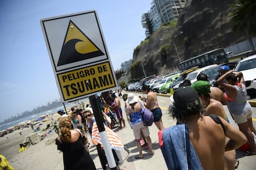
[[[189,139],[186,124],[177,124],[158,132],[159,144],[168,169],[201,170],[202,164]]]

